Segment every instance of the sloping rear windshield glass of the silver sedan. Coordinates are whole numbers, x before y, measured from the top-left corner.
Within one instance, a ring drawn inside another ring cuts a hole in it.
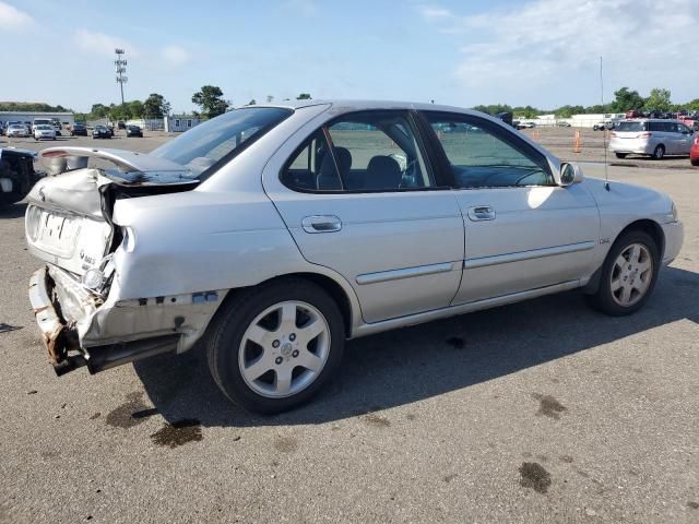
[[[244,107],[208,120],[151,155],[180,164],[199,176],[218,160],[247,146],[293,111],[281,107]]]

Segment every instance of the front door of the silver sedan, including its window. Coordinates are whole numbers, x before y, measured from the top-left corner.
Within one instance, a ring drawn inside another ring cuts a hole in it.
[[[592,262],[600,217],[582,184],[556,184],[546,157],[503,126],[426,111],[465,225],[453,303],[569,283]]]

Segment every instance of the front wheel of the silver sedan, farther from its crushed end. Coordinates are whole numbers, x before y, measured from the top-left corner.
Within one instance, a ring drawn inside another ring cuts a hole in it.
[[[641,230],[625,233],[609,249],[597,293],[589,300],[606,314],[631,314],[653,293],[659,270],[660,250],[655,240]]]

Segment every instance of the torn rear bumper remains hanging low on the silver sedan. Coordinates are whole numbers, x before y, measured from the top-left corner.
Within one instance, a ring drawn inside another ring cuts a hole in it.
[[[60,271],[60,270],[58,270]],[[29,279],[29,301],[36,315],[36,322],[42,333],[42,340],[48,350],[49,360],[59,377],[74,369],[86,366],[91,373],[97,373],[122,364],[141,360],[177,349],[180,334],[171,333],[149,338],[112,343],[90,348],[80,344],[78,323],[68,321],[61,313],[58,297],[63,297],[66,307],[82,303],[86,318],[92,317],[94,303],[90,303],[90,293],[76,291],[78,288],[57,286],[54,277],[61,273],[50,273],[48,266],[36,271]]]

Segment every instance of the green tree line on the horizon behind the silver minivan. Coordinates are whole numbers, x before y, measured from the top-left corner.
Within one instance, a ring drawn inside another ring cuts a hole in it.
[[[670,90],[654,87],[649,96],[641,96],[638,91],[631,91],[629,87],[621,87],[614,92],[614,100],[609,104],[593,106],[561,106],[555,109],[538,109],[532,106],[512,107],[507,104],[491,104],[488,106],[474,106],[476,111],[487,112],[488,115],[497,115],[498,112],[512,112],[524,118],[534,118],[540,115],[554,114],[558,118],[570,118],[573,115],[590,115],[603,112],[626,112],[629,110],[644,111],[662,111],[672,112],[679,110],[697,111],[699,110],[699,98],[685,104],[673,104]]]

